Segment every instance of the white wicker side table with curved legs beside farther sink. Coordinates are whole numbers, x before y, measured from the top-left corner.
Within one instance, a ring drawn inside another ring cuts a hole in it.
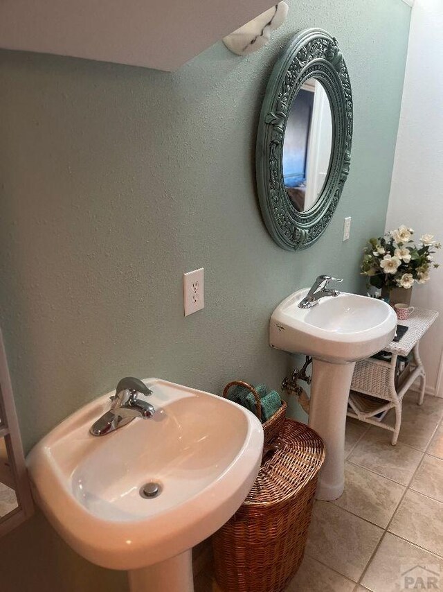
[[[389,351],[390,362],[368,358],[357,362],[352,376],[351,392],[349,397],[348,417],[354,417],[390,430],[392,434],[392,446],[397,444],[401,426],[401,401],[404,394],[413,384],[416,378],[420,378],[420,391],[417,403],[422,405],[424,388],[426,386],[426,373],[419,355],[419,341],[429,327],[438,317],[437,311],[428,311],[426,308],[415,308],[408,320],[400,324],[407,325],[408,331],[397,342],[392,341],[384,351]],[[395,386],[395,368],[398,356],[408,356],[413,351],[413,360],[408,365],[406,376],[401,383]],[[362,397],[361,394],[370,395]],[[395,409],[395,426],[383,423],[383,417],[390,409]],[[382,414],[382,419],[374,419]]]

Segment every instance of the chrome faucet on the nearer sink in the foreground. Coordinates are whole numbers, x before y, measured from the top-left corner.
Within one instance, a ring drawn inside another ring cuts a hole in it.
[[[110,397],[111,408],[93,424],[89,432],[93,436],[105,436],[129,424],[135,417],[152,417],[154,407],[151,403],[138,399],[138,394],[149,395],[152,390],[138,378],[122,378],[117,385],[116,394]]]

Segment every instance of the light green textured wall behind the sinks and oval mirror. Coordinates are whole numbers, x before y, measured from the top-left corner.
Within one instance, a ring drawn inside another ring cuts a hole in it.
[[[125,374],[212,392],[239,377],[278,387],[288,356],[268,345],[275,305],[322,272],[363,286],[361,247],[384,229],[410,9],[289,4],[260,52],[238,58],[218,43],[173,74],[0,52],[0,310],[26,449]],[[332,223],[293,254],[264,228],[253,163],[273,62],[307,26],[345,55],[354,144]],[[206,308],[184,318],[181,275],[201,266]],[[42,517],[1,541],[2,577],[8,592],[36,578],[48,592],[125,588]]]

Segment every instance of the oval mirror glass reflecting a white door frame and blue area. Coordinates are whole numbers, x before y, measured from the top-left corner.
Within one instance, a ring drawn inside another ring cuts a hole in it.
[[[320,197],[332,152],[332,114],[319,80],[310,78],[289,110],[283,143],[283,180],[291,202],[307,211]]]

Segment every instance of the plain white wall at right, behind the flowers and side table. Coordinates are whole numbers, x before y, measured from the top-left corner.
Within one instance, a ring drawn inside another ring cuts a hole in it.
[[[426,232],[443,242],[442,31],[442,0],[415,0],[386,229],[406,224],[417,239]],[[437,263],[442,255],[437,252]],[[443,267],[413,288],[413,304],[440,312],[420,351],[427,390],[443,397]]]

